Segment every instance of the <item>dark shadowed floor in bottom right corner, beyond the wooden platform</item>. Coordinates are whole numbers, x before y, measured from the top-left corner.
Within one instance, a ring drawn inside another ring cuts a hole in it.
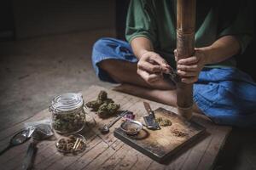
[[[219,153],[214,169],[256,169],[255,129],[234,127],[223,150]]]

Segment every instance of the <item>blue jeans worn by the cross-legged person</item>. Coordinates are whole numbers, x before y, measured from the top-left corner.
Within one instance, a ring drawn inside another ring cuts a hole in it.
[[[92,52],[93,67],[97,77],[113,83],[114,80],[108,73],[98,66],[104,59],[137,62],[129,43],[114,38],[98,40]],[[215,123],[256,127],[256,83],[236,68],[205,67],[194,84],[193,99],[201,111]]]

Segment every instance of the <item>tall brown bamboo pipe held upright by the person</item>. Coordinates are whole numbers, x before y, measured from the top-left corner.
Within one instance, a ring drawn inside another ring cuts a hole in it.
[[[177,60],[194,54],[195,1],[177,0]],[[193,84],[177,83],[177,112],[190,119],[193,106]]]

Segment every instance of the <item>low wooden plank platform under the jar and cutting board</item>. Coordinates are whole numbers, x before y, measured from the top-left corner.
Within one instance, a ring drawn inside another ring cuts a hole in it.
[[[96,95],[102,89],[104,88],[93,86],[83,91],[84,100],[96,99]],[[121,105],[122,110],[133,111],[137,116],[140,116],[144,111],[143,99],[128,94],[120,94],[113,90],[108,90],[108,94],[110,98]],[[173,107],[151,101],[149,103],[153,109],[161,106],[176,112]],[[102,120],[93,112],[89,114],[96,119],[97,125],[85,129],[82,133],[88,141],[86,150],[77,156],[63,156],[55,149],[55,141],[42,141],[38,144],[34,169],[209,169],[213,167],[218,152],[223,147],[231,130],[230,127],[214,125],[205,116],[195,115],[193,121],[207,127],[207,136],[189,149],[182,150],[172,158],[172,161],[164,165],[151,160],[148,156],[144,156],[119,139],[114,138],[113,129],[119,126],[119,122],[111,128],[107,135],[100,134],[98,127],[111,121],[111,119]],[[49,118],[49,116],[49,111],[44,110],[25,122],[41,120]],[[0,149],[8,144],[10,137],[23,126],[24,122],[20,122],[1,131]],[[26,142],[26,144],[12,148],[1,156],[0,169],[20,169],[28,144],[29,142]]]

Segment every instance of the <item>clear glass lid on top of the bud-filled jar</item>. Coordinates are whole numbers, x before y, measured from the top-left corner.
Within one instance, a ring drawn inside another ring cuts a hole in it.
[[[49,106],[53,111],[73,111],[84,105],[82,94],[67,93],[55,97]]]

